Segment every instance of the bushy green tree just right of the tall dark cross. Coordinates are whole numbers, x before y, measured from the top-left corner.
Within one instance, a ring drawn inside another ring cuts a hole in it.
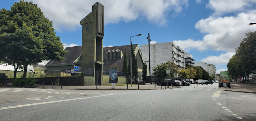
[[[162,79],[164,79],[164,77],[167,77],[167,73],[166,70],[168,70],[168,66],[167,64],[160,64],[157,65],[156,68],[153,68],[154,73],[152,73],[153,75],[157,76],[157,77],[161,77]]]

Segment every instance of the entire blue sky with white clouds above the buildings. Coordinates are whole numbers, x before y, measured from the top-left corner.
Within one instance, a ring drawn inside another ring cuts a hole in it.
[[[0,0],[10,9],[19,0]],[[80,20],[100,2],[105,6],[104,47],[174,42],[193,55],[194,62],[227,70],[247,31],[255,31],[256,0],[28,0],[53,21],[64,48],[82,45]]]

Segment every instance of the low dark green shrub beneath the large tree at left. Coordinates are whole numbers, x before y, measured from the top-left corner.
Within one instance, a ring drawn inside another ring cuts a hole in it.
[[[13,85],[15,86],[30,86],[35,84],[35,80],[31,79],[31,77],[28,77],[26,79],[23,79],[23,77],[17,78],[15,79],[15,81],[13,81]]]

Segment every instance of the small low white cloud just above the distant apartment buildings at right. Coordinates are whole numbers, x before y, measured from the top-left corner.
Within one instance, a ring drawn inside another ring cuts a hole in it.
[[[219,56],[208,56],[205,59],[201,59],[201,62],[208,64],[227,64],[233,55],[235,55],[235,52],[222,53]]]

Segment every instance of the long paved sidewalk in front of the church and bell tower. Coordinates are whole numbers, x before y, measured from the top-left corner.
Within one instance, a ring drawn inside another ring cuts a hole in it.
[[[3,87],[13,87],[13,85],[8,84],[7,86],[4,85]],[[36,84],[35,86],[24,86],[24,88],[44,88],[44,89],[55,89],[55,90],[61,90],[60,85],[41,85],[41,84]],[[102,85],[97,85],[96,86],[62,86],[62,90],[161,90],[161,89],[171,89],[171,88],[180,88],[179,86],[158,86],[155,84],[146,84],[146,85],[129,85],[128,84],[128,89],[127,85],[124,86],[115,86],[115,89],[111,89],[111,86],[102,86]]]

